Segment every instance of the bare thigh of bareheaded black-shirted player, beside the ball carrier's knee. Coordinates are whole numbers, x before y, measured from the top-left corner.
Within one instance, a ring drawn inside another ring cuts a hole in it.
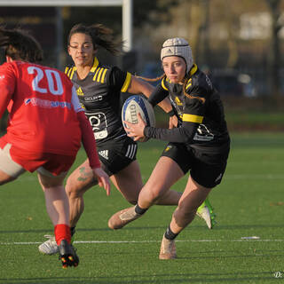
[[[131,162],[130,165],[115,173],[110,179],[127,201],[130,203],[138,201],[143,183],[137,161]]]

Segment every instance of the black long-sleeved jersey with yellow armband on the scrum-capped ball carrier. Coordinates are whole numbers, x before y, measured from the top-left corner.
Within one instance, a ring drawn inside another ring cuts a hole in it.
[[[230,141],[225,122],[224,107],[217,90],[209,77],[194,64],[190,79],[183,85],[170,83],[163,78],[149,98],[155,106],[169,96],[178,124],[175,129],[146,127],[147,138],[158,138],[169,142],[185,143],[194,147],[221,146]],[[196,97],[200,99],[195,99]],[[204,102],[202,99],[205,99]]]

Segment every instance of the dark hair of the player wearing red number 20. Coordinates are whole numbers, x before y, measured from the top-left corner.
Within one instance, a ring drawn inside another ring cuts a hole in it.
[[[0,27],[0,47],[4,47],[5,55],[13,60],[32,63],[43,60],[43,50],[36,39],[28,31],[20,28],[6,29]]]

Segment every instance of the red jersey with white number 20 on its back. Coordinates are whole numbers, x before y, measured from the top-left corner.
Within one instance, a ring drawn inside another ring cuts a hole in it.
[[[83,109],[72,88],[67,75],[51,67],[0,66],[0,117],[10,102],[6,140],[31,152],[76,154],[82,138],[76,113]]]

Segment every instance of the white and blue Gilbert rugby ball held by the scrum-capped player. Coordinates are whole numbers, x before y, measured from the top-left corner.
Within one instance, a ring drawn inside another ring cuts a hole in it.
[[[125,100],[122,106],[122,123],[130,122],[133,124],[138,123],[138,114],[141,115],[142,120],[146,122],[147,126],[155,125],[154,109],[153,106],[142,96],[133,95]],[[127,125],[123,123],[127,128]],[[140,142],[146,142],[148,138],[139,139]]]

